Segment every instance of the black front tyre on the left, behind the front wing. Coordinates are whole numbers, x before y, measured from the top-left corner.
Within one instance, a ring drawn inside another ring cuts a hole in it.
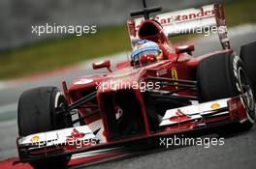
[[[19,136],[72,127],[69,125],[71,117],[64,117],[55,112],[57,107],[66,105],[66,99],[56,87],[39,87],[23,92],[17,107]],[[30,164],[34,168],[58,168],[65,166],[69,159],[69,155],[60,155],[51,159],[36,160]]]

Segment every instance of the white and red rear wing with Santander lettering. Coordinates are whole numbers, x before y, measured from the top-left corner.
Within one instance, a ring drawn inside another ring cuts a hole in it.
[[[199,33],[201,29],[211,29],[218,33],[223,49],[230,49],[230,41],[227,35],[226,21],[223,5],[212,4],[198,9],[191,8],[171,13],[157,14],[150,17],[159,22],[166,36]],[[138,31],[144,17],[129,18],[127,20],[128,32],[132,46],[139,40]]]

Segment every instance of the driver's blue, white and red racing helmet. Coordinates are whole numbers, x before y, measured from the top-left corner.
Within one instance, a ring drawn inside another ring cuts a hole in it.
[[[163,58],[163,52],[156,42],[142,40],[136,43],[132,52],[132,65],[140,67]]]

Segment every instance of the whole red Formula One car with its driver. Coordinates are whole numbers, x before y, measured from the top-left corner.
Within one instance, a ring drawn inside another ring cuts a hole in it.
[[[86,75],[69,87],[25,91],[18,101],[19,162],[65,166],[79,153],[225,124],[255,122],[256,43],[231,49],[222,5],[158,14],[131,13],[131,60],[93,64],[110,72]],[[136,17],[144,15],[144,17]],[[222,49],[192,56],[194,45],[173,47],[168,37],[216,27]]]

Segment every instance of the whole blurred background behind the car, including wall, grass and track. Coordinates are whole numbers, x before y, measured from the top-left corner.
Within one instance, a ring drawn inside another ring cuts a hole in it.
[[[255,0],[147,0],[147,6],[160,5],[176,11],[221,2],[231,44],[256,40]],[[1,0],[0,1],[0,160],[16,155],[16,105],[29,88],[68,84],[92,70],[91,63],[110,58],[112,65],[127,58],[130,42],[125,25],[129,13],[142,8],[141,0]],[[32,34],[35,25],[96,25],[96,34]],[[195,55],[220,49],[216,35],[188,36],[175,43],[193,42]],[[197,48],[199,46],[200,48]]]

